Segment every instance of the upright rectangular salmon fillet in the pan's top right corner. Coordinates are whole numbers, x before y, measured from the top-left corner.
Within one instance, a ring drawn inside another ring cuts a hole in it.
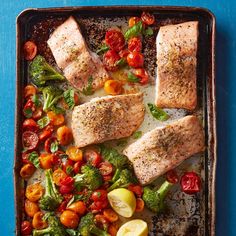
[[[156,38],[158,107],[195,109],[197,39],[197,21],[160,27]]]

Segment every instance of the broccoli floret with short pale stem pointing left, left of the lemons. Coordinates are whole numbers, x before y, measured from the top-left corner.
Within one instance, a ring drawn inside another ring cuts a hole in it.
[[[94,166],[82,166],[81,173],[82,174],[74,176],[76,186],[87,187],[90,190],[95,190],[102,185],[102,175]]]

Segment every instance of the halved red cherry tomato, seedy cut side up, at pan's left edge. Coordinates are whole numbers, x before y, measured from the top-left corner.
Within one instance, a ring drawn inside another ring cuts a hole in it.
[[[38,147],[39,137],[35,132],[25,131],[22,134],[23,148],[28,151],[33,151]]]

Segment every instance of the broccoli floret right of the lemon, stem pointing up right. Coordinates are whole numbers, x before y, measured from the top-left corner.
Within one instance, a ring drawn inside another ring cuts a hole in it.
[[[142,198],[147,208],[155,213],[163,211],[165,197],[172,185],[172,183],[165,181],[157,190],[148,186],[144,187]]]

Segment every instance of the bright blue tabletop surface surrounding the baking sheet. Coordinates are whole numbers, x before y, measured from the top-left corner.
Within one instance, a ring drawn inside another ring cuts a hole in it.
[[[15,19],[25,8],[78,5],[182,5],[210,9],[217,19],[216,235],[236,235],[236,3],[235,0],[1,0],[0,8],[0,235],[14,235],[13,157]]]

